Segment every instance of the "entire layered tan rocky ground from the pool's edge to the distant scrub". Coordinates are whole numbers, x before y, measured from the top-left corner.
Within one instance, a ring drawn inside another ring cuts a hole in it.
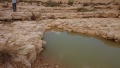
[[[120,42],[119,5],[45,7],[20,2],[17,12],[12,11],[11,3],[0,5],[0,68],[34,67],[46,43],[44,32],[51,28]]]

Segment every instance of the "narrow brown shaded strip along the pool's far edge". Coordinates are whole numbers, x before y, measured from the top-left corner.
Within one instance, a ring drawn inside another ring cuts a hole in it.
[[[73,35],[80,35],[80,36],[82,36],[84,38],[95,38],[95,39],[98,39],[98,40],[101,40],[102,42],[104,42],[105,45],[116,47],[116,48],[120,48],[120,43],[117,43],[117,42],[115,42],[113,40],[104,39],[104,38],[99,37],[99,36],[93,36],[93,35],[82,34],[82,33],[75,33],[75,32],[67,32],[67,31],[64,31],[62,29],[50,29],[50,30],[47,30],[47,31],[66,32],[68,35],[71,35],[71,36],[73,36]]]

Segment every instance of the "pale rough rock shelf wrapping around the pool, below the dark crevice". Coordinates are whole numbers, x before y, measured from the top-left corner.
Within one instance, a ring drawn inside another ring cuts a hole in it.
[[[52,27],[120,42],[120,19],[117,18],[17,21],[0,24],[0,50],[8,51],[12,61],[31,67],[36,55],[43,49],[45,42],[41,39],[45,30]]]

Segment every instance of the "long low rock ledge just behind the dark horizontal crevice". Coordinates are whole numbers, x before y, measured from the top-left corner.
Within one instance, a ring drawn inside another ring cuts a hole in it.
[[[9,14],[6,13],[6,14]],[[16,12],[7,17],[0,17],[4,20],[36,20],[36,19],[72,19],[72,18],[118,18],[119,12],[81,12],[81,13],[40,13],[40,12]]]

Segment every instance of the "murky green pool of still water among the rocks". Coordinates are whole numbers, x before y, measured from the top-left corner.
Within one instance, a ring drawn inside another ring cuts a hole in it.
[[[102,38],[47,31],[43,56],[64,68],[120,68],[120,44]]]

